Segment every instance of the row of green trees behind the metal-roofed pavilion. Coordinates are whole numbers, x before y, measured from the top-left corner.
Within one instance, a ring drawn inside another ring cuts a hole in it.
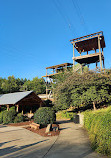
[[[0,94],[33,90],[37,94],[45,93],[45,81],[35,77],[33,80],[19,79],[9,76],[8,79],[0,78]]]

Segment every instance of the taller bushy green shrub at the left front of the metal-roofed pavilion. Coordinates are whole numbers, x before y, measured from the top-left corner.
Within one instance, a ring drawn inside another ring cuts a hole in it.
[[[14,107],[11,107],[9,109],[9,111],[4,111],[3,112],[3,123],[4,124],[13,123],[15,115],[16,115],[16,112],[15,112]]]

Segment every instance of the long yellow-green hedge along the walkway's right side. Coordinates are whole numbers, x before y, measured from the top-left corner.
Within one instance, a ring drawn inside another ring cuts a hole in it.
[[[84,126],[88,130],[92,148],[111,155],[111,107],[84,113]]]

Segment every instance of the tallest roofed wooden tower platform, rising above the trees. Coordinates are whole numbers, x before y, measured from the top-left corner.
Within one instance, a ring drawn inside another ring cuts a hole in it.
[[[103,53],[103,48],[105,47],[105,40],[102,31],[72,39],[70,40],[70,42],[73,44],[72,59],[74,71],[75,61],[81,64],[81,69],[84,65],[89,65],[91,63],[96,63],[96,68],[98,66],[98,63],[100,63],[100,70],[105,68]],[[78,51],[80,56],[75,57],[75,49]],[[99,51],[97,52],[97,50]],[[85,52],[87,54],[83,55],[83,53]]]

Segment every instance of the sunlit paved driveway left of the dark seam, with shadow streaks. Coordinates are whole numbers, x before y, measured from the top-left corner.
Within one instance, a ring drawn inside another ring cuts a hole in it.
[[[56,139],[56,136],[42,137],[20,127],[0,126],[0,158],[41,158]]]

